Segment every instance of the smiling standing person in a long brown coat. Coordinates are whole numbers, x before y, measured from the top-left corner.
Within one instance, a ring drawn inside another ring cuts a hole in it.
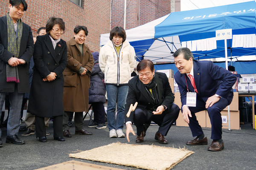
[[[64,75],[63,104],[63,136],[71,137],[68,117],[75,112],[76,134],[92,135],[84,129],[83,112],[88,111],[88,89],[90,73],[94,59],[84,41],[88,35],[87,27],[76,26],[74,37],[67,41],[67,67]]]

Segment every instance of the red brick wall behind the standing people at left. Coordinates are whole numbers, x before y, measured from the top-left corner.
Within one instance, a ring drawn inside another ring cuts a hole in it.
[[[83,7],[70,0],[26,0],[28,9],[22,17],[36,35],[38,28],[45,26],[49,17],[61,17],[66,25],[63,40],[74,36],[76,25],[87,26],[86,44],[91,51],[99,51],[100,34],[109,33],[111,0],[84,0]],[[9,11],[9,0],[0,0],[0,17]]]

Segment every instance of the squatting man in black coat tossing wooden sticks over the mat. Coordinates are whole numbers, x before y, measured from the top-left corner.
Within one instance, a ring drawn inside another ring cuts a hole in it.
[[[155,138],[161,144],[167,144],[164,136],[176,121],[180,108],[173,104],[174,96],[166,74],[154,72],[154,64],[151,60],[143,59],[137,65],[139,75],[132,78],[128,85],[128,95],[125,104],[126,138],[129,133],[134,133],[132,123],[137,127],[136,142],[144,142],[145,132],[150,122],[159,125]],[[131,104],[138,102],[135,111],[127,117],[126,113]]]

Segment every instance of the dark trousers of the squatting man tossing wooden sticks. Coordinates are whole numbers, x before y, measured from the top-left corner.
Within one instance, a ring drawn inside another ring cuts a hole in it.
[[[172,124],[176,121],[180,113],[180,108],[172,104],[171,108],[163,111],[160,115],[154,115],[151,111],[140,108],[134,111],[134,125],[137,127],[137,135],[145,131],[151,121],[159,125],[158,132],[166,136]]]

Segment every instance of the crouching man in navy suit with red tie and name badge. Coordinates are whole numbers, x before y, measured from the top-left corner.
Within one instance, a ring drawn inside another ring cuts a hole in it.
[[[180,90],[182,116],[184,121],[189,124],[192,136],[197,136],[186,144],[208,144],[207,137],[195,116],[195,113],[207,110],[212,124],[211,139],[213,139],[208,150],[221,151],[224,149],[224,142],[221,137],[222,119],[220,112],[232,102],[232,86],[236,82],[236,77],[230,71],[211,61],[194,60],[189,48],[180,48],[175,51],[173,56],[178,68],[174,77]],[[195,87],[192,85],[193,79]],[[187,92],[195,92],[195,107],[186,105]]]

